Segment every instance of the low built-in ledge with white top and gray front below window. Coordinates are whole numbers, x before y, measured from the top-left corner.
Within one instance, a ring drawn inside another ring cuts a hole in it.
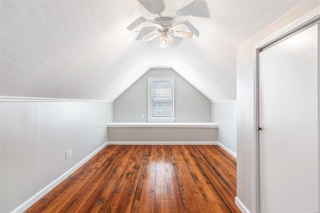
[[[113,142],[215,142],[217,141],[217,131],[218,125],[212,122],[112,122],[107,124],[108,141]]]

